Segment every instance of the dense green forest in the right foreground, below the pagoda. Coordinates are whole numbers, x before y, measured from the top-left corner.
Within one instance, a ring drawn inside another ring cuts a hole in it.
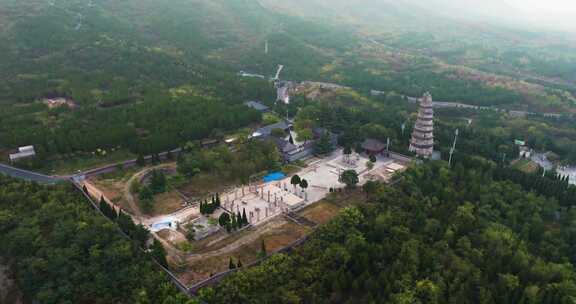
[[[572,303],[576,213],[495,180],[496,165],[429,163],[290,255],[202,291],[209,303]]]

